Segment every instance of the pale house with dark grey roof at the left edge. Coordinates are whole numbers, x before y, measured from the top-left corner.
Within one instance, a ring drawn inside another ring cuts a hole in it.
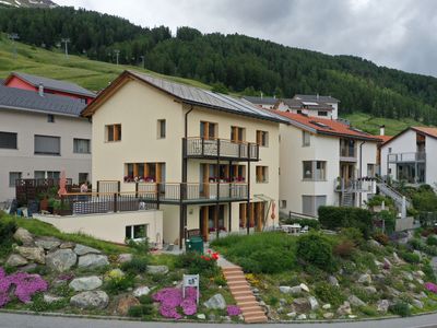
[[[91,180],[91,122],[86,105],[67,96],[0,85],[0,202],[19,178]]]

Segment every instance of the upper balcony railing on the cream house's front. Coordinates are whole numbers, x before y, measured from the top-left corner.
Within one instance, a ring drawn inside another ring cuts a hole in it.
[[[259,161],[259,145],[251,142],[235,142],[226,139],[184,139],[184,157],[222,159],[232,161]]]

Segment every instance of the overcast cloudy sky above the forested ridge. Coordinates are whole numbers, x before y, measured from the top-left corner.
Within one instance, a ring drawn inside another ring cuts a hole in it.
[[[142,26],[239,33],[437,77],[437,0],[54,0]]]

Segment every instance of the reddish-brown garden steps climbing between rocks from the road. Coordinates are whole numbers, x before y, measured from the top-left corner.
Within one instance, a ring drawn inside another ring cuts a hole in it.
[[[245,323],[267,323],[268,318],[255,297],[249,283],[246,281],[241,268],[238,266],[222,267],[222,271],[231,293],[241,309]]]

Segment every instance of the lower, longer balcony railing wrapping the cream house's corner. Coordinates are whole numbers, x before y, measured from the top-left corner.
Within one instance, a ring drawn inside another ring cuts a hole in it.
[[[142,195],[147,202],[164,204],[233,202],[247,200],[248,185],[241,183],[139,183],[137,192]]]

